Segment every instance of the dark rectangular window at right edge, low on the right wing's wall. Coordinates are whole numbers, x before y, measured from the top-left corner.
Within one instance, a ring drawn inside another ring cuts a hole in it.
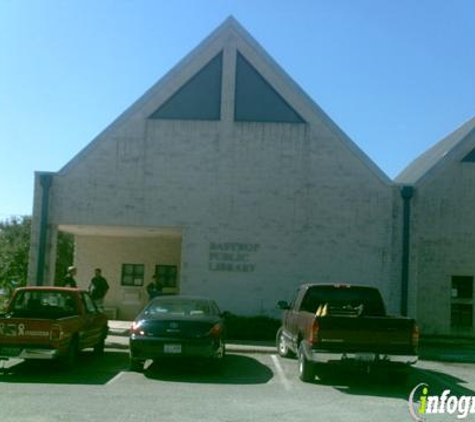
[[[452,327],[473,327],[473,277],[452,276]]]

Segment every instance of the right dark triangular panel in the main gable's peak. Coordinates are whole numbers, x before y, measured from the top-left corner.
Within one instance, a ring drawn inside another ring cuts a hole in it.
[[[305,123],[261,74],[238,52],[234,120]]]

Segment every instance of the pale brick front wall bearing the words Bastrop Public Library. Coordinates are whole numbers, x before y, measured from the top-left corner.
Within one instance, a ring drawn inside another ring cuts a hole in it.
[[[377,285],[397,308],[391,183],[260,47],[233,31],[224,38],[208,40],[55,176],[50,223],[181,228],[181,292],[236,313],[273,314],[308,281]],[[221,121],[146,119],[220,48]],[[237,48],[308,124],[233,122]],[[226,242],[259,245],[254,271],[209,270],[210,244]],[[147,250],[138,241],[130,254]],[[128,259],[122,240],[78,239],[81,271],[117,268],[117,256]],[[108,300],[120,303],[120,293]]]

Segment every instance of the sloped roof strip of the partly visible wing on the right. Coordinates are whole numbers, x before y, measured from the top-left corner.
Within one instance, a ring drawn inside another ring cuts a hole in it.
[[[417,157],[396,177],[395,182],[408,185],[421,183],[447,160],[450,160],[458,147],[474,132],[475,117]]]

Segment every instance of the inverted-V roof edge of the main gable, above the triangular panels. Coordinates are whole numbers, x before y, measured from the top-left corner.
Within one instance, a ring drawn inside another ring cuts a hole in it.
[[[176,86],[183,85],[205,66],[213,57],[229,47],[229,40],[234,37],[234,48],[248,60],[268,81],[277,84],[276,93],[284,102],[291,96],[291,107],[304,121],[324,123],[362,164],[368,168],[382,183],[390,185],[389,177],[326,115],[326,113],[287,75],[259,43],[234,19],[227,18],[221,26],[211,33],[201,44],[182,59],[160,81],[150,88],[139,100],[119,116],[108,128],[99,134],[88,146],[67,163],[60,173],[65,174],[89,155],[104,137],[130,119],[149,118],[176,93]],[[251,57],[250,57],[251,56]],[[258,66],[257,66],[258,65]],[[269,79],[270,78],[270,79]],[[285,109],[285,105],[281,107]],[[239,119],[238,119],[239,120]],[[245,120],[245,116],[243,117]]]

